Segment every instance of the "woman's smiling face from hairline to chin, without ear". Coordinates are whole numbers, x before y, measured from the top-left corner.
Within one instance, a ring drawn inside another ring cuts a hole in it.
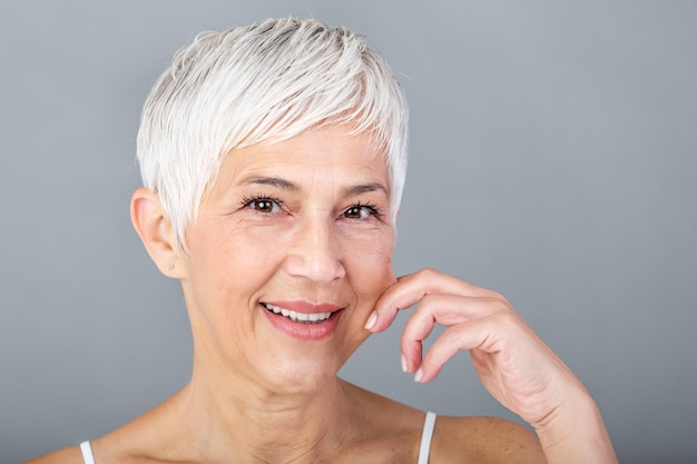
[[[391,217],[365,134],[334,126],[233,150],[187,231],[197,355],[276,388],[335,375],[395,283]]]

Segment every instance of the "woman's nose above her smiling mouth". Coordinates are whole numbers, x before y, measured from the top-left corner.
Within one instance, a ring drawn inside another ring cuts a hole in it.
[[[334,220],[325,215],[305,217],[295,230],[285,263],[294,277],[328,284],[346,274]]]

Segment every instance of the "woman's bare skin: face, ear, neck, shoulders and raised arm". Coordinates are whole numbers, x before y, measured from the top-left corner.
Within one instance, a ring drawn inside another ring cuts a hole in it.
[[[134,225],[159,269],[181,282],[194,368],[171,398],[92,441],[96,462],[415,463],[423,413],[336,377],[414,304],[404,369],[429,382],[470,351],[484,386],[539,436],[501,419],[439,416],[431,463],[616,462],[583,386],[505,299],[432,269],[394,276],[387,179],[369,137],[341,126],[233,150],[187,230],[188,254],[157,198],[138,189]],[[268,302],[336,315],[293,325]],[[423,356],[434,324],[449,328]],[[31,461],[45,462],[82,461],[73,446]]]

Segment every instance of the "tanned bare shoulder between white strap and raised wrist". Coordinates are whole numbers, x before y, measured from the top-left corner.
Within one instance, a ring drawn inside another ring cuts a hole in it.
[[[439,416],[433,463],[544,464],[537,436],[514,422],[493,417]]]

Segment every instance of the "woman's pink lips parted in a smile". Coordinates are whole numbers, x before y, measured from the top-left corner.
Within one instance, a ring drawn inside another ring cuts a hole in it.
[[[263,302],[268,305],[279,306],[282,308],[291,309],[296,313],[315,314],[315,313],[332,313],[328,319],[325,319],[317,324],[302,324],[291,320],[279,314],[269,312],[259,302],[259,309],[271,323],[271,325],[278,332],[288,335],[293,338],[305,340],[321,340],[332,336],[336,332],[341,316],[343,315],[343,308],[333,304],[322,303],[313,304],[308,302],[295,300],[295,302]]]

